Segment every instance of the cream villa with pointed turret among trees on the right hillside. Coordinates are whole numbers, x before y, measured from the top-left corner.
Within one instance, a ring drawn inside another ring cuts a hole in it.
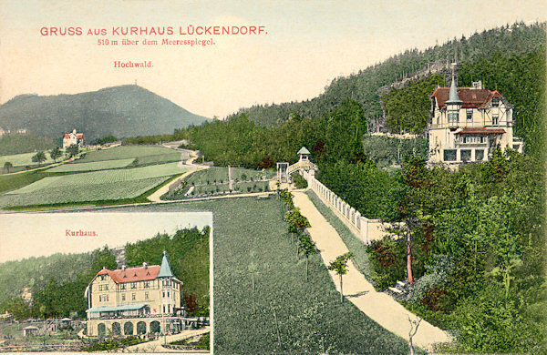
[[[431,98],[428,122],[429,164],[458,166],[488,160],[497,146],[522,153],[523,142],[513,136],[511,104],[498,92],[482,88],[438,87]]]

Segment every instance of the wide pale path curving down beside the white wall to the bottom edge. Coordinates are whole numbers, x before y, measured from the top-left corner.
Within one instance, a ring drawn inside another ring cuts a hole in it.
[[[319,213],[303,191],[294,191],[294,205],[300,208],[301,213],[310,221],[312,227],[308,230],[317,248],[321,250],[321,258],[325,265],[348,252],[346,244],[338,236],[335,228]],[[339,277],[334,271],[329,271],[329,273],[336,289],[340,291]],[[348,266],[348,273],[343,277],[343,284],[346,299],[385,329],[408,340],[410,330],[408,317],[411,320],[416,320],[415,315],[387,294],[377,292],[353,263]],[[449,335],[444,330],[432,326],[425,320],[421,321],[418,333],[413,338],[414,344],[425,350],[433,350],[435,343],[449,341]]]

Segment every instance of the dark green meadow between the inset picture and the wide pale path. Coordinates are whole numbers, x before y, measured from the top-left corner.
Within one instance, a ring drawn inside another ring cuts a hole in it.
[[[304,282],[304,259],[295,256],[295,246],[285,234],[283,206],[276,198],[231,198],[120,209],[213,211],[217,354],[408,351],[404,340],[369,320],[350,302],[340,303],[335,285],[318,256],[310,259],[310,278]]]

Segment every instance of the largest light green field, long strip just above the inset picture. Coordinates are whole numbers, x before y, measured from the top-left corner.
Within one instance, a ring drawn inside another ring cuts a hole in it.
[[[184,171],[168,163],[44,177],[0,197],[0,207],[136,198]]]

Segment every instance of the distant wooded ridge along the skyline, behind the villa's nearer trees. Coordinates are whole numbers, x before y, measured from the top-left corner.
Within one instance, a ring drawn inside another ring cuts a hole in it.
[[[408,76],[439,59],[475,63],[480,59],[490,58],[496,52],[501,52],[505,57],[526,56],[544,45],[545,24],[506,25],[476,33],[469,38],[455,37],[444,45],[432,46],[423,51],[407,50],[354,75],[335,78],[330,86],[325,88],[325,93],[311,100],[252,106],[241,109],[234,116],[246,113],[249,120],[256,125],[271,126],[287,120],[292,113],[302,117],[323,116],[346,98],[350,98],[363,107],[365,117],[379,117],[382,115],[382,109],[377,96],[378,88]]]

